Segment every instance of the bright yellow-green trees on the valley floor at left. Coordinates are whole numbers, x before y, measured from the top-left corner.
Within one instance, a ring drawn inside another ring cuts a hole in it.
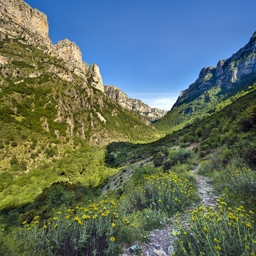
[[[47,154],[54,154],[52,147],[45,150]],[[0,209],[12,209],[32,202],[52,182],[72,182],[90,188],[103,184],[111,173],[116,172],[104,164],[104,148],[83,145],[79,150],[69,148],[63,154],[60,161],[51,164],[42,161],[29,172],[22,170],[26,163],[13,156],[10,159],[12,172],[0,173]]]

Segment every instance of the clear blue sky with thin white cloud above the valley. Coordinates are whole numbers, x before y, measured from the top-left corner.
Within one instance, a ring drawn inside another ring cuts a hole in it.
[[[52,43],[68,38],[103,83],[170,110],[204,67],[256,31],[255,0],[25,0],[48,17]]]

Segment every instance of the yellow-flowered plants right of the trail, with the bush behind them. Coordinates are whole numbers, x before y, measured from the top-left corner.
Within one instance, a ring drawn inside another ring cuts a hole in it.
[[[255,172],[227,166],[216,170],[214,180],[222,194],[216,200],[218,211],[194,207],[186,212],[189,227],[177,214],[172,232],[175,255],[255,255]]]

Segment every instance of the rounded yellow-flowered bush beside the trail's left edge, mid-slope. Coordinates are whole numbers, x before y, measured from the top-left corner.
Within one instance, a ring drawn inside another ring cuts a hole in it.
[[[131,180],[125,188],[120,198],[121,209],[133,212],[154,207],[169,216],[188,205],[191,195],[195,193],[188,179],[173,172],[149,175],[140,184]]]

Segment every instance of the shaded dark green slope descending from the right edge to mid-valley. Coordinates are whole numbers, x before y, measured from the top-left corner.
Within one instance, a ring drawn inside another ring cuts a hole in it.
[[[173,147],[193,147],[199,157],[218,155],[219,164],[225,165],[238,157],[239,161],[255,168],[256,83],[250,84],[248,90],[237,93],[237,96],[227,99],[228,106],[211,116],[152,143],[111,143],[108,162],[119,166],[153,156],[155,165],[161,166]]]

